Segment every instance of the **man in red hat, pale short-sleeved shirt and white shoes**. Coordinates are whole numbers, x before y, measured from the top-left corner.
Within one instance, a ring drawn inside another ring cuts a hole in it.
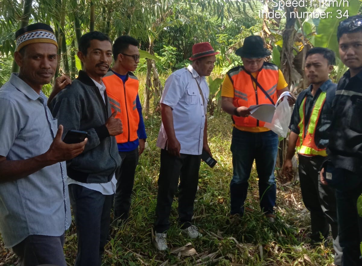
[[[211,156],[207,144],[207,100],[210,76],[215,63],[210,43],[192,47],[192,64],[172,73],[161,97],[162,124],[157,139],[161,148],[161,166],[155,221],[155,247],[167,249],[167,230],[174,193],[178,194],[178,223],[190,238],[202,236],[191,224],[197,191],[202,150]],[[180,178],[180,185],[178,180]]]

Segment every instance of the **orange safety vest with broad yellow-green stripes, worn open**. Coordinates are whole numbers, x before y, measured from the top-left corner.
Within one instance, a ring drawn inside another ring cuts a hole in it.
[[[326,95],[327,94],[325,91],[321,92],[314,104],[311,117],[309,119],[307,126],[307,134],[304,134],[304,129],[306,126],[306,122],[304,119],[304,114],[306,113],[306,98],[304,98],[302,104],[300,104],[299,108],[300,122],[298,124],[299,138],[297,139],[296,142],[296,147],[297,147],[296,152],[301,155],[306,155],[306,156],[320,155],[324,157],[327,156],[326,149],[318,148],[314,140],[314,134],[317,127],[317,122],[320,117]]]

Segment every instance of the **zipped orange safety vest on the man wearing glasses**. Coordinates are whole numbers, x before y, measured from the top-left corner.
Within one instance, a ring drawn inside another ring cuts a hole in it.
[[[139,113],[136,108],[136,97],[139,82],[138,78],[131,72],[128,72],[127,75],[126,83],[123,83],[122,79],[111,70],[102,78],[112,112],[117,110],[115,117],[122,121],[123,133],[115,137],[117,143],[126,143],[138,139]]]

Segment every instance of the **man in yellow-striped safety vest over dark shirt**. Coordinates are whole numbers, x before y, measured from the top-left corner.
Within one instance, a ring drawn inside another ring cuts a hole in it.
[[[292,178],[292,157],[298,153],[300,190],[304,205],[311,212],[311,243],[319,244],[320,235],[328,239],[332,228],[334,264],[342,265],[342,248],[338,243],[338,223],[334,189],[322,184],[319,170],[325,157],[332,120],[332,101],[337,84],[329,79],[336,62],[334,52],[321,47],[306,54],[304,72],[311,84],[299,93],[290,121],[289,145],[283,174]]]

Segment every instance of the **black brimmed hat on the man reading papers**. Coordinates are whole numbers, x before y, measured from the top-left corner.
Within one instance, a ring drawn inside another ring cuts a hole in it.
[[[264,41],[260,36],[253,35],[245,38],[244,46],[235,51],[240,57],[262,58],[270,56],[270,51],[264,47]]]

